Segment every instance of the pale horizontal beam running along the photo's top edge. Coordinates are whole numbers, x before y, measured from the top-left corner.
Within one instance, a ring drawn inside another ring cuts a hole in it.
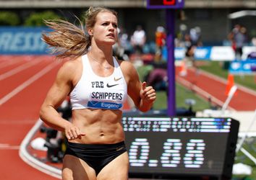
[[[147,0],[0,0],[1,8],[145,7]],[[256,8],[256,0],[184,0],[185,8]]]

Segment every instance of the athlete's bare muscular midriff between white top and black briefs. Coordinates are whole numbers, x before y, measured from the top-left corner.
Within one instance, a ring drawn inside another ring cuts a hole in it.
[[[70,140],[72,143],[113,144],[124,140],[121,125],[121,110],[75,109],[72,124],[79,127],[85,136]]]

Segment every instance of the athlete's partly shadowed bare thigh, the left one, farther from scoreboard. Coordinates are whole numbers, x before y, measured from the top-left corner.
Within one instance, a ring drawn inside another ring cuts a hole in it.
[[[85,161],[71,155],[65,155],[62,168],[63,180],[95,180],[95,171]]]

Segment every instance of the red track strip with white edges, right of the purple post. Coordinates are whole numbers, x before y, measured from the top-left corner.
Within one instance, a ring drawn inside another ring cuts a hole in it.
[[[194,69],[188,69],[187,76],[179,76],[180,68],[176,68],[176,81],[187,88],[192,89],[200,96],[208,99],[211,97],[214,104],[222,107],[226,102],[226,86],[225,79],[213,76],[204,71],[196,72]],[[236,94],[229,102],[229,108],[236,111],[255,111],[256,109],[256,92],[239,86],[234,82],[238,89]],[[256,86],[256,84],[255,84]]]

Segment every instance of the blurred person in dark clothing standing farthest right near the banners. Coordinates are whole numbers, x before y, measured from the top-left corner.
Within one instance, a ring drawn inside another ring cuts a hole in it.
[[[242,59],[243,47],[247,42],[247,29],[241,24],[236,24],[234,29],[229,33],[229,40],[234,49],[236,60]]]

